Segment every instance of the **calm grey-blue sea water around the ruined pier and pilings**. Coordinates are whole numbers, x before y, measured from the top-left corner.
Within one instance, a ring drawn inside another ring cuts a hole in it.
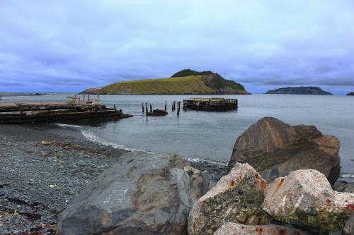
[[[3,97],[8,100],[62,101],[70,94],[38,97]],[[101,95],[108,107],[135,116],[120,121],[81,123],[77,127],[86,138],[106,145],[150,152],[176,152],[185,158],[210,159],[227,163],[236,138],[263,116],[273,116],[296,124],[314,124],[326,135],[341,140],[342,176],[354,177],[354,97],[325,95],[224,95],[239,99],[234,112],[171,112],[173,100],[183,101],[190,95]],[[195,97],[195,96],[193,96]],[[203,97],[217,97],[215,95]],[[169,115],[142,116],[142,102],[164,108]],[[67,128],[62,126],[62,128]]]

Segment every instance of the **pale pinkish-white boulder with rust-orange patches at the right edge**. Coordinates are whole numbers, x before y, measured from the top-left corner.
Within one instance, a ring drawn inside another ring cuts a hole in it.
[[[310,231],[341,231],[354,210],[354,195],[333,191],[316,170],[293,171],[265,188],[263,210],[281,222]]]

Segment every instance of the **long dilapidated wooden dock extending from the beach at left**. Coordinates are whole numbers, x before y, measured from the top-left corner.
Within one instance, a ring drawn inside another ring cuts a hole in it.
[[[65,121],[124,119],[131,117],[122,110],[110,109],[96,101],[1,102],[0,124],[62,123]]]

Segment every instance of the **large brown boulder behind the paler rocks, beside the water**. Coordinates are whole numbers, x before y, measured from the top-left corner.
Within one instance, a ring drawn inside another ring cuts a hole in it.
[[[338,152],[339,140],[315,126],[290,126],[265,117],[236,140],[228,168],[247,162],[268,182],[297,169],[316,169],[333,184],[341,171]]]

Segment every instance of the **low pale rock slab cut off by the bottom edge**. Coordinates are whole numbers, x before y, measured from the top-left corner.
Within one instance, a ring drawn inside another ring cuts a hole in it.
[[[307,231],[295,229],[294,227],[285,227],[280,225],[252,226],[235,223],[225,223],[217,229],[214,235],[307,235]]]

